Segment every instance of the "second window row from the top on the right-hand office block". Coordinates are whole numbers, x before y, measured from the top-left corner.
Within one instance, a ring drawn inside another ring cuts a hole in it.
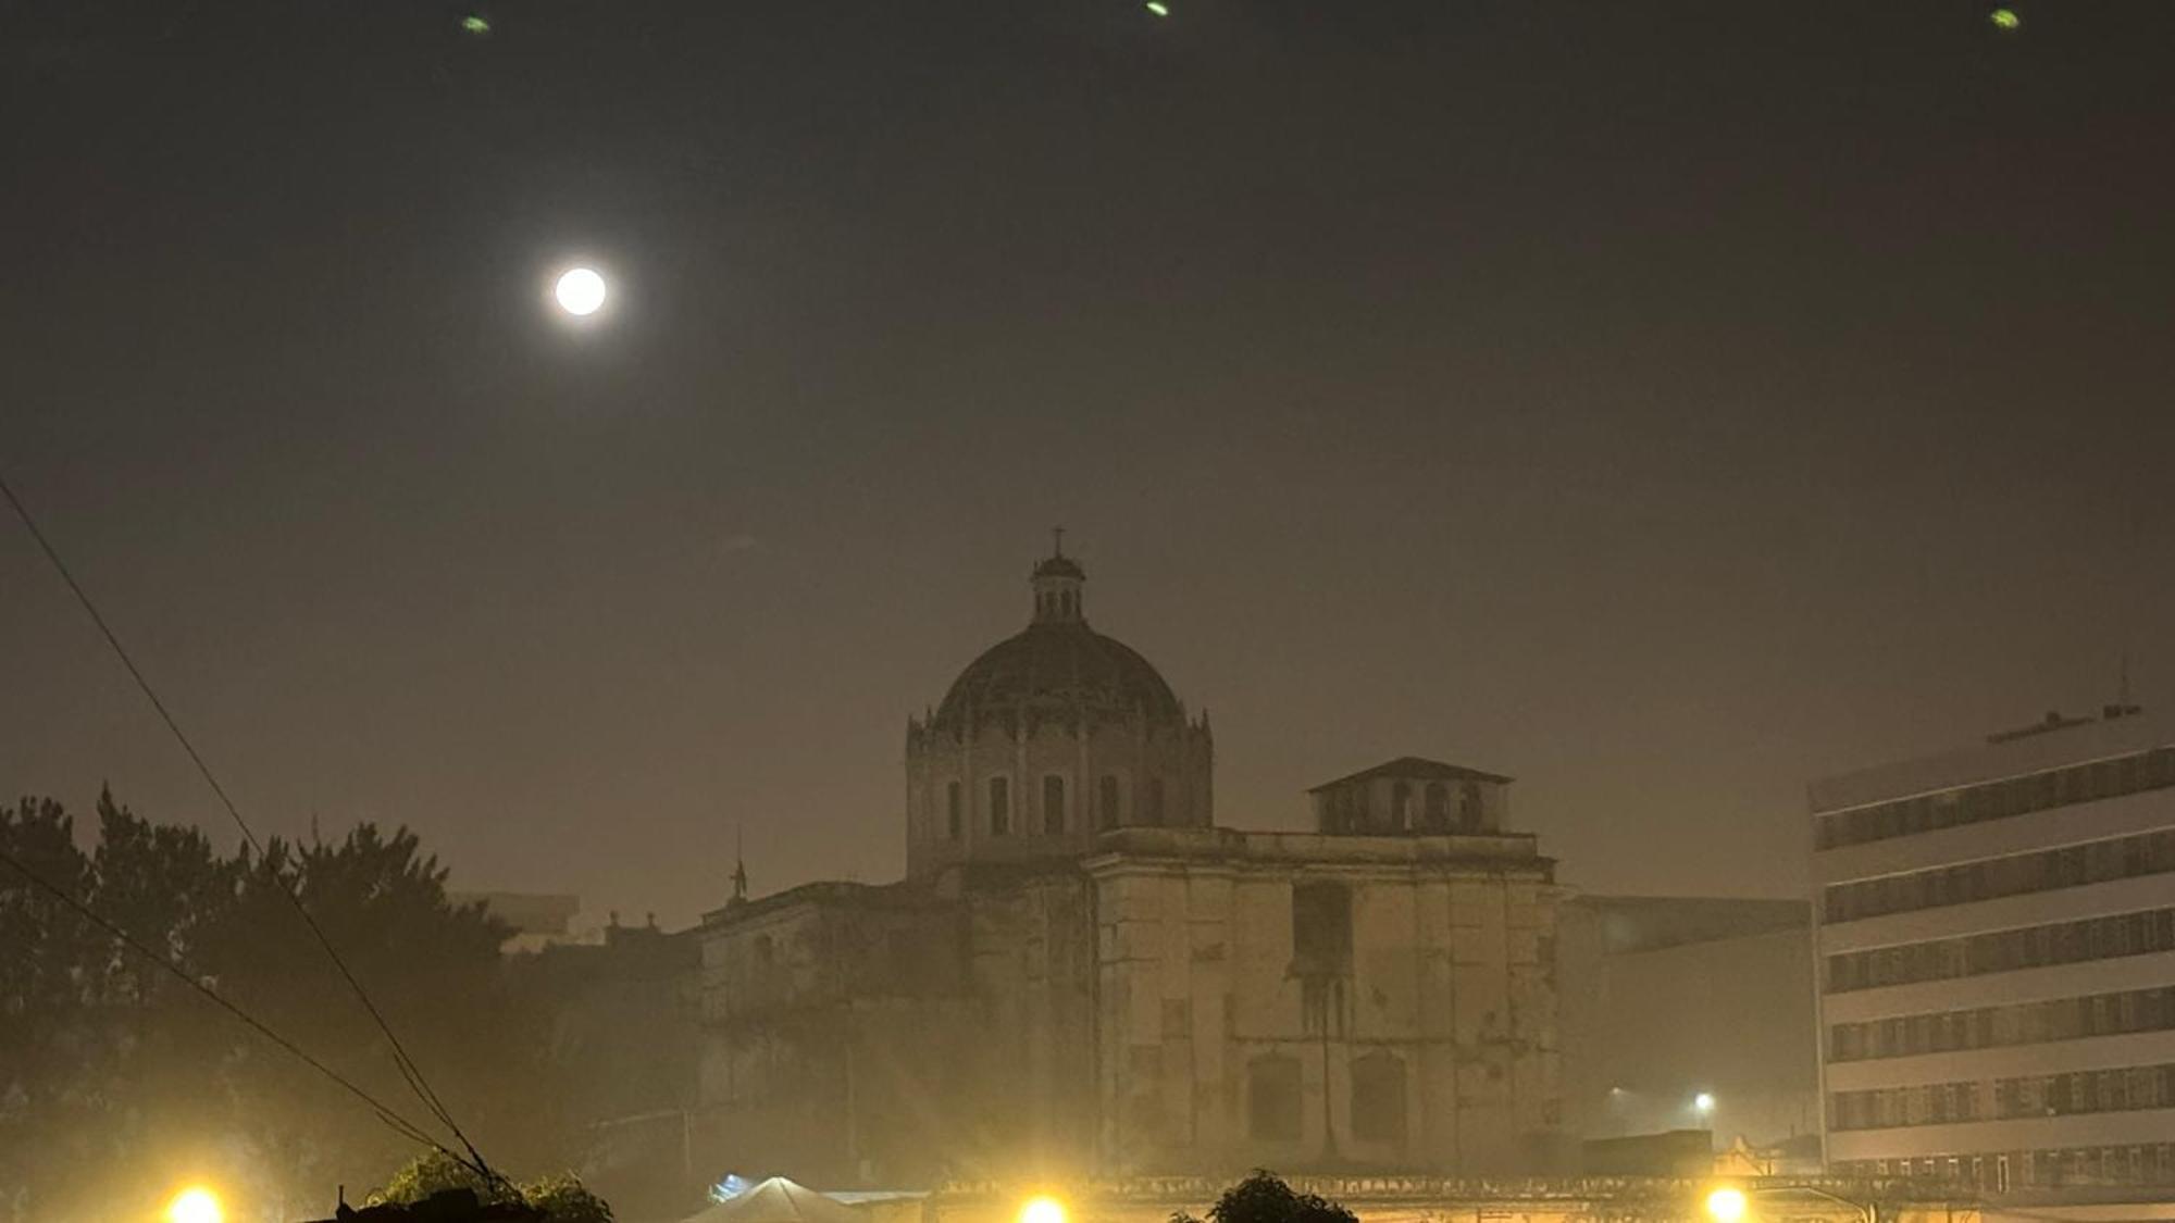
[[[1857,921],[2166,870],[2175,870],[2175,829],[1836,884],[1823,901],[1827,921]]]

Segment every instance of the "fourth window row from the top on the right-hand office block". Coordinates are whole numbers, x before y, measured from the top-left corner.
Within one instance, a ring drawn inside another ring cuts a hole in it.
[[[1912,1058],[2123,1031],[2166,1031],[2171,1027],[2175,1027],[2175,986],[2155,986],[2079,999],[1836,1023],[1827,1029],[1827,1060]]]

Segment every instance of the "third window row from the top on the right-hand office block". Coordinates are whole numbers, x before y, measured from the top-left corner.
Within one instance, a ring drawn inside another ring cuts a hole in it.
[[[2079,960],[2175,951],[2175,910],[2147,910],[2086,921],[1905,942],[1827,958],[1827,992],[1870,990],[1910,981],[1977,977]]]

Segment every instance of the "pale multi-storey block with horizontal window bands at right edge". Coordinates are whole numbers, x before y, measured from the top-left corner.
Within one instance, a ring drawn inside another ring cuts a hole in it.
[[[1812,818],[1829,1166],[2175,1214],[2175,727],[2049,716]]]

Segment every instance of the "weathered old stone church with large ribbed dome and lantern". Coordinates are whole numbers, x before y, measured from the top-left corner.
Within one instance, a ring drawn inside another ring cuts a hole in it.
[[[687,1151],[833,1188],[1564,1166],[1555,864],[1425,757],[1216,825],[1214,736],[1085,568],[907,720],[907,877],[696,929]]]

